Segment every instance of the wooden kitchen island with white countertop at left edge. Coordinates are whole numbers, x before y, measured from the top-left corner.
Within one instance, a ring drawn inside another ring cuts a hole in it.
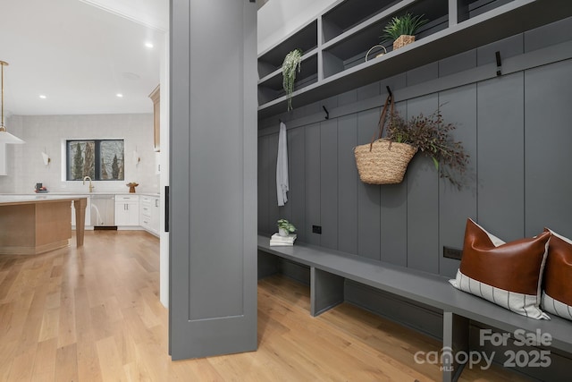
[[[0,254],[35,255],[67,247],[71,239],[71,202],[80,247],[88,203],[85,196],[0,195]]]

